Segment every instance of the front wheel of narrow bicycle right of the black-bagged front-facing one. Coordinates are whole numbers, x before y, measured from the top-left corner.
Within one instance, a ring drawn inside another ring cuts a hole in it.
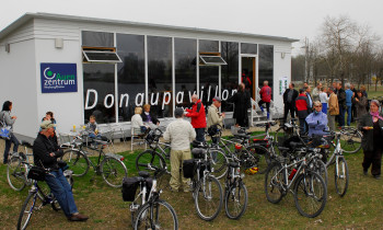
[[[224,197],[224,210],[230,219],[240,219],[247,207],[247,189],[242,181],[235,181]]]

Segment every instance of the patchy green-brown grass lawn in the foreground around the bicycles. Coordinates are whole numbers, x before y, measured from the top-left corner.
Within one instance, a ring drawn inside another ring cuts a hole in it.
[[[135,158],[138,152],[123,152],[129,174],[136,174]],[[171,193],[167,187],[161,195],[176,210],[179,229],[382,229],[383,180],[362,174],[362,151],[346,154],[349,166],[349,187],[340,198],[334,186],[334,166],[328,170],[328,200],[324,211],[310,219],[299,215],[293,196],[288,194],[279,204],[267,202],[264,175],[246,176],[248,206],[240,220],[230,220],[224,209],[217,219],[207,222],[198,218],[190,193]],[[0,166],[0,220],[2,229],[14,229],[27,188],[14,192],[7,183],[7,168]],[[129,203],[124,203],[119,188],[107,186],[101,176],[90,181],[93,171],[84,177],[74,179],[74,199],[81,212],[89,215],[88,222],[69,222],[62,211],[45,206],[30,222],[30,229],[131,229]]]

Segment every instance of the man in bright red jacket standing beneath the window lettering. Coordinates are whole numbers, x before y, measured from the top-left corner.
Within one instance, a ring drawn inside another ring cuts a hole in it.
[[[202,102],[196,94],[192,95],[193,106],[192,110],[186,108],[186,117],[192,118],[192,126],[196,129],[197,138],[199,142],[205,141],[205,129],[206,129],[206,112]]]

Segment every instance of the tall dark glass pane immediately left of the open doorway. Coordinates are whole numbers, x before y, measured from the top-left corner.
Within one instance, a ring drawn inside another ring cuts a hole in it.
[[[221,42],[221,56],[228,65],[221,67],[222,112],[232,112],[233,105],[225,102],[239,85],[239,43]]]

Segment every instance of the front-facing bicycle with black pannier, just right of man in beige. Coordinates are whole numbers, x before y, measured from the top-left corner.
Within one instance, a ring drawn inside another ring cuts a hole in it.
[[[212,159],[207,149],[194,148],[192,154],[194,159],[183,163],[184,177],[190,179],[190,192],[197,215],[202,220],[210,221],[222,208],[222,187],[218,179],[211,175]]]

